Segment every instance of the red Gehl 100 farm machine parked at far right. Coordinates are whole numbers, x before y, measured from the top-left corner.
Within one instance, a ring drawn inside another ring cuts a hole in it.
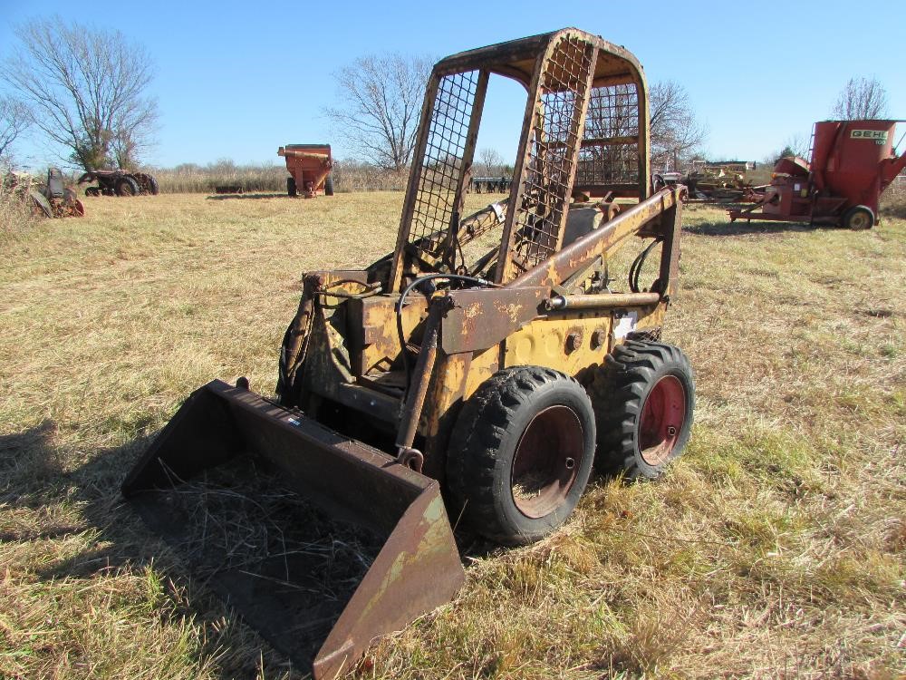
[[[906,168],[896,155],[897,121],[821,121],[814,123],[809,160],[777,160],[769,185],[754,205],[731,209],[730,221],[831,224],[869,229],[879,222],[884,189]]]

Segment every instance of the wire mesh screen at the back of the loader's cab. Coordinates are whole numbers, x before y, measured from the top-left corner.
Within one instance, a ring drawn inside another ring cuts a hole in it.
[[[639,93],[635,84],[593,88],[576,185],[638,185],[638,137]]]

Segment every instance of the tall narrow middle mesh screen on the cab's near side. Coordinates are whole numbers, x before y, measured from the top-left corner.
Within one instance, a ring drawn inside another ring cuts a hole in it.
[[[576,36],[564,36],[545,65],[522,201],[514,223],[513,262],[523,269],[534,267],[557,249],[560,224],[569,209],[570,170],[592,53],[591,44]]]

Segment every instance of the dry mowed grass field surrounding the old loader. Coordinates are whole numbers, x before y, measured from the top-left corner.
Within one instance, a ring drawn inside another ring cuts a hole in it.
[[[0,244],[0,677],[296,677],[119,500],[214,377],[275,384],[305,269],[392,248],[402,194],[85,199]],[[472,196],[473,207],[487,197]],[[593,481],[531,547],[467,559],[359,675],[893,678],[906,668],[906,220],[689,209],[664,340],[687,454]]]

